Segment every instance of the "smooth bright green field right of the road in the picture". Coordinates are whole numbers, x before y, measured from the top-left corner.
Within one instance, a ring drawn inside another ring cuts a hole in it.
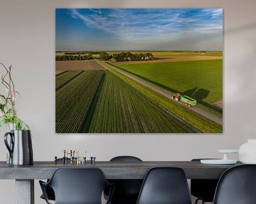
[[[223,60],[114,65],[168,91],[196,98],[199,103],[223,99]]]

